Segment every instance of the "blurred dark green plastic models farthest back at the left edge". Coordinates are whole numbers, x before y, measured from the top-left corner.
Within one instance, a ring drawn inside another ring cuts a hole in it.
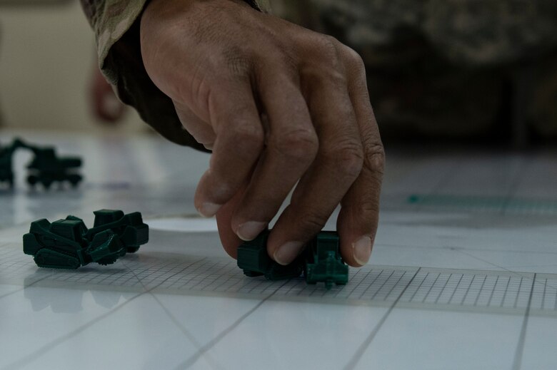
[[[27,165],[29,170],[27,183],[31,186],[40,183],[48,189],[54,182],[68,182],[76,186],[83,180],[83,177],[77,173],[81,167],[81,158],[60,158],[52,147],[40,148],[15,139],[11,145],[4,147],[0,145],[0,184],[14,186],[14,170],[11,162],[18,149],[31,150],[34,154],[33,160]]]

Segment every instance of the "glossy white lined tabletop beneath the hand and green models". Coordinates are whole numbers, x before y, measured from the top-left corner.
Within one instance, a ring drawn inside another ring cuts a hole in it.
[[[327,292],[226,257],[193,207],[207,155],[25,138],[83,155],[86,181],[31,192],[21,154],[0,192],[0,369],[557,369],[557,151],[388,152],[371,264]],[[76,271],[21,251],[32,220],[100,208],[141,211],[149,244]]]

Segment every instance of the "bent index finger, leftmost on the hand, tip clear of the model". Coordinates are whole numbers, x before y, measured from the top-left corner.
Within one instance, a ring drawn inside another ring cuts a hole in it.
[[[249,81],[221,86],[209,101],[216,133],[209,169],[199,180],[195,205],[210,217],[236,195],[259,158],[264,133]]]

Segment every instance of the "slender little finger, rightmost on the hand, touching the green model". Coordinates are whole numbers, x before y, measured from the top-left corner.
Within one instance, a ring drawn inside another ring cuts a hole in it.
[[[337,230],[341,255],[351,266],[366,264],[371,255],[379,220],[379,195],[385,153],[366,85],[361,58],[347,48],[348,91],[363,143],[363,168],[341,201]]]

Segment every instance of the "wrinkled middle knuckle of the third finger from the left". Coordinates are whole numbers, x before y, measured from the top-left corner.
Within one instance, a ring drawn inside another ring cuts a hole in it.
[[[350,178],[357,178],[363,167],[363,146],[353,138],[337,140],[325,156]]]

